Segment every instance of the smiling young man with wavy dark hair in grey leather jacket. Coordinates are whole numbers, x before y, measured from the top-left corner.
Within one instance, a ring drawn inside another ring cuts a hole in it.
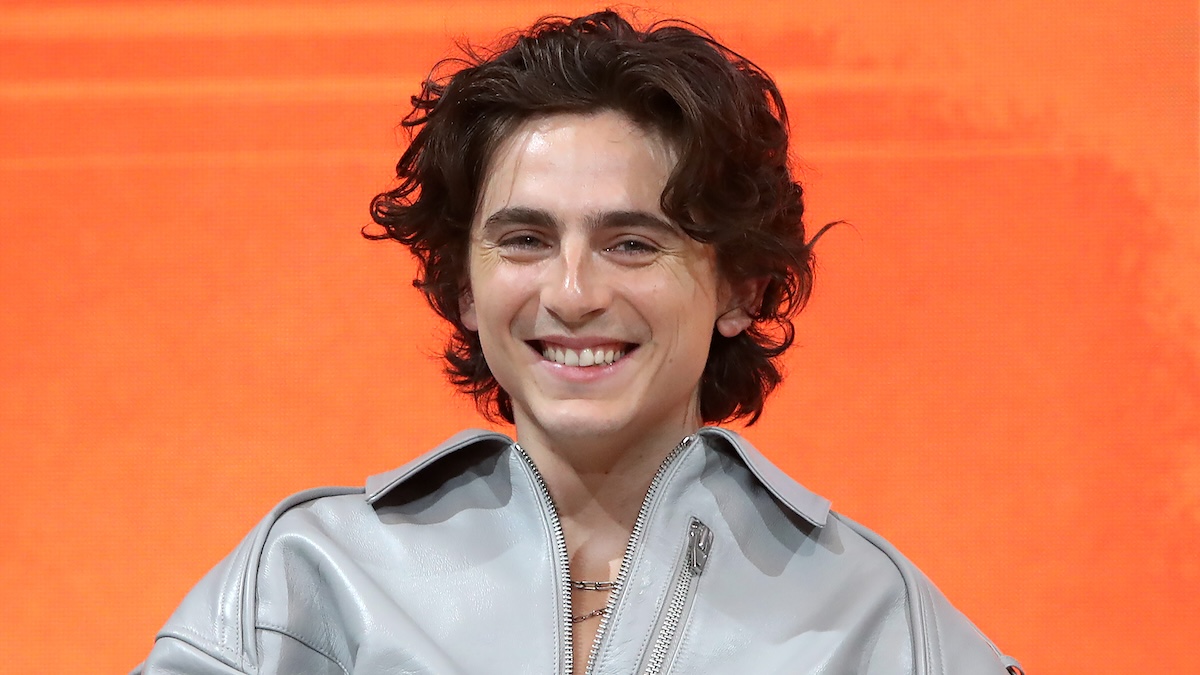
[[[272,512],[144,673],[995,673],[886,542],[736,434],[811,287],[770,78],[694,28],[546,19],[431,79],[373,204],[454,329],[463,432]]]

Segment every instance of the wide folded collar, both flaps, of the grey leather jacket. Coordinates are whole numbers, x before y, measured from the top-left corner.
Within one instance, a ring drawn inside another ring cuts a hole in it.
[[[698,435],[706,440],[724,444],[733,450],[746,465],[750,472],[758,479],[776,500],[788,507],[797,515],[808,520],[817,527],[823,527],[829,515],[829,500],[810,491],[804,485],[797,483],[791,476],[784,473],[778,466],[770,462],[749,441],[720,426],[704,426]],[[511,446],[512,440],[504,434],[496,431],[484,431],[481,429],[467,429],[455,434],[449,440],[432,450],[410,460],[409,462],[367,478],[366,496],[367,503],[374,503],[383,498],[397,485],[419,473],[422,468],[438,461],[439,459],[479,444],[494,446],[496,452]]]

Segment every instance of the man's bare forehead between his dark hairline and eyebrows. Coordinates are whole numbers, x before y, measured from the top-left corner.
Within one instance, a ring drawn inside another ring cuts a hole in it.
[[[661,133],[622,113],[532,118],[497,145],[475,221],[511,207],[568,216],[605,210],[660,214],[676,156]]]

